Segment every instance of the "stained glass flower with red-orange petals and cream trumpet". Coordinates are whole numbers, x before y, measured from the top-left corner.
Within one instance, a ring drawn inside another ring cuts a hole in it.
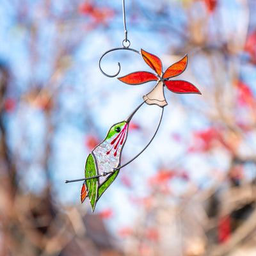
[[[152,68],[156,74],[151,72],[134,72],[127,76],[119,77],[118,79],[127,84],[143,84],[149,81],[157,81],[155,88],[143,96],[145,102],[149,105],[156,104],[160,107],[167,105],[164,97],[163,87],[166,86],[169,90],[175,93],[200,93],[195,85],[183,80],[170,80],[170,78],[179,76],[187,67],[188,56],[174,63],[163,73],[161,60],[146,51],[141,49],[141,56],[147,65]]]

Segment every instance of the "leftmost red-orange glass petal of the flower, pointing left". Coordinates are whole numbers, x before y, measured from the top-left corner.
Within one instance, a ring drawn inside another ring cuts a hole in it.
[[[158,78],[150,72],[134,72],[127,76],[119,77],[118,79],[127,84],[143,84],[158,80]]]

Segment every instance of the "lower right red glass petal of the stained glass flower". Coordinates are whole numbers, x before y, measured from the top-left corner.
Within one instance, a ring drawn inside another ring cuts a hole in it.
[[[175,93],[200,93],[200,91],[196,88],[195,85],[179,80],[179,81],[164,81],[166,87]]]

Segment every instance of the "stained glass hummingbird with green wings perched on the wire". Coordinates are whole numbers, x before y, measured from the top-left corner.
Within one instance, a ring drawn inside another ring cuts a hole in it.
[[[127,139],[129,123],[132,116],[138,111],[144,102],[136,108],[124,121],[114,124],[108,131],[106,138],[88,155],[84,167],[84,180],[81,188],[81,202],[88,197],[95,209],[100,196],[116,179],[121,164],[121,154]],[[129,161],[130,162],[130,161]],[[125,164],[126,165],[126,164]],[[124,165],[123,165],[124,166]],[[66,180],[74,182],[79,180]]]

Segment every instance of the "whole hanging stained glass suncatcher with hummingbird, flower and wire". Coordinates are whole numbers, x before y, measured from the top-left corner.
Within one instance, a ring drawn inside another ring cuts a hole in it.
[[[110,49],[106,51],[99,60],[99,68],[102,74],[108,77],[116,77],[120,73],[120,63],[118,63],[118,72],[114,75],[106,74],[102,68],[100,67],[100,62],[102,58],[108,54],[109,52],[116,50],[127,50],[140,54],[143,60],[147,63],[147,65],[154,70],[152,72],[139,71],[133,72],[123,77],[119,77],[118,79],[123,83],[127,84],[143,84],[149,81],[156,81],[156,86],[149,93],[143,96],[143,102],[136,108],[132,114],[125,119],[124,121],[113,125],[106,136],[106,138],[97,145],[97,147],[93,148],[92,152],[86,159],[86,164],[84,168],[84,179],[78,180],[66,180],[66,182],[74,182],[83,180],[83,186],[81,188],[81,202],[83,203],[85,198],[88,197],[90,200],[90,204],[92,207],[92,211],[94,211],[95,206],[102,194],[109,188],[111,183],[116,179],[118,172],[120,169],[131,163],[134,159],[136,159],[140,154],[150,145],[156,133],[159,129],[159,125],[161,124],[161,120],[163,117],[163,109],[164,106],[167,105],[166,99],[164,97],[164,87],[168,88],[171,92],[175,93],[198,93],[201,94],[200,91],[196,88],[195,85],[189,83],[188,81],[183,80],[172,80],[173,77],[179,76],[184,72],[188,65],[188,55],[182,58],[180,61],[170,65],[165,72],[163,72],[163,65],[161,60],[154,54],[151,54],[147,51],[141,49],[141,51],[136,51],[134,49],[129,48],[130,42],[127,40],[127,29],[125,24],[125,7],[123,0],[123,14],[124,14],[124,30],[125,30],[125,39],[122,42],[123,47]],[[157,105],[161,107],[161,116],[159,123],[157,125],[156,131],[154,135],[147,143],[147,145],[138,153],[135,157],[133,157],[130,161],[123,164],[121,166],[121,155],[122,149],[125,145],[125,141],[127,140],[129,122],[131,121],[132,116],[138,111],[138,109],[144,104],[148,105]]]

